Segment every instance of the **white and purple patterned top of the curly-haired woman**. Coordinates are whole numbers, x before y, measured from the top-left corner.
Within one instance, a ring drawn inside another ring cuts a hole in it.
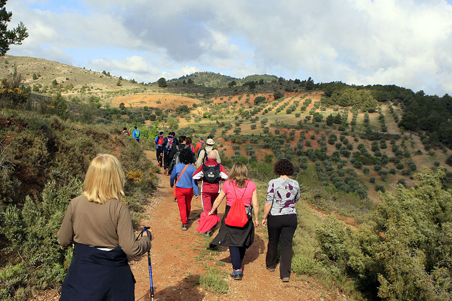
[[[267,200],[272,204],[270,215],[296,214],[295,203],[300,199],[300,186],[292,179],[278,178],[268,182]]]

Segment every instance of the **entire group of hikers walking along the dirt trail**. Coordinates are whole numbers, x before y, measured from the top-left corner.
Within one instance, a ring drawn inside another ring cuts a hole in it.
[[[273,272],[279,263],[280,278],[288,282],[297,228],[295,203],[300,198],[298,182],[290,179],[293,164],[286,159],[274,164],[278,177],[268,183],[259,222],[256,185],[248,178],[247,166],[238,162],[227,172],[214,149],[213,137],[205,142],[199,137],[194,147],[190,137],[176,139],[174,132],[167,137],[160,132],[155,143],[158,165],[170,175],[181,229],[187,230],[188,221],[194,219],[191,202],[194,194],[197,198],[200,195],[203,211],[197,231],[210,237],[220,223],[209,248],[228,246],[231,277],[241,280],[243,258],[254,242],[254,228],[261,224],[268,231],[266,269]],[[100,154],[89,164],[83,192],[70,201],[58,232],[61,246],[74,245],[60,300],[134,300],[135,280],[127,255],[149,251],[153,236],[152,231],[146,231],[148,235],[135,238],[128,208],[121,202],[124,184],[124,171],[116,157]],[[217,209],[225,197],[226,211],[220,218]]]

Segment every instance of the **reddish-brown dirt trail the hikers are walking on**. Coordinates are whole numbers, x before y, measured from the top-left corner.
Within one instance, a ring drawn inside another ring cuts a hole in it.
[[[155,161],[155,154],[147,152],[149,159]],[[244,258],[244,277],[241,281],[232,279],[229,251],[219,247],[219,252],[209,252],[205,248],[212,238],[196,232],[197,219],[201,213],[200,198],[192,200],[194,220],[189,221],[189,229],[180,229],[180,217],[177,204],[173,202],[169,176],[160,174],[158,190],[154,193],[154,205],[145,208],[145,218],[141,224],[149,225],[154,233],[151,260],[155,300],[334,300],[314,280],[304,277],[298,279],[292,275],[290,282],[282,283],[278,269],[269,272],[265,269],[267,246],[266,231],[260,226],[255,232],[254,244]],[[219,208],[222,216],[225,202]],[[217,230],[213,233],[215,236]],[[223,264],[224,263],[224,264]],[[229,285],[227,295],[218,295],[206,291],[198,285],[198,276],[206,273],[205,264],[222,271]],[[137,281],[136,300],[150,300],[149,272],[147,256],[133,258],[130,261],[132,272]]]

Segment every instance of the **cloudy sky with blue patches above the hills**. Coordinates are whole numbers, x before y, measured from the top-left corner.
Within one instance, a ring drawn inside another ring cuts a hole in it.
[[[210,71],[452,94],[452,0],[8,0],[33,56],[155,82]]]

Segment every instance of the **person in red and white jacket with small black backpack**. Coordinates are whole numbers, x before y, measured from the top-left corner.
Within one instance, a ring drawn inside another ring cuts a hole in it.
[[[212,209],[212,204],[217,198],[221,190],[220,181],[227,179],[227,173],[225,167],[217,162],[217,152],[211,150],[207,155],[207,161],[198,167],[193,174],[195,181],[201,181],[201,203],[202,210],[206,214]],[[217,211],[215,211],[217,214]],[[205,233],[206,236],[210,236],[212,229]]]

